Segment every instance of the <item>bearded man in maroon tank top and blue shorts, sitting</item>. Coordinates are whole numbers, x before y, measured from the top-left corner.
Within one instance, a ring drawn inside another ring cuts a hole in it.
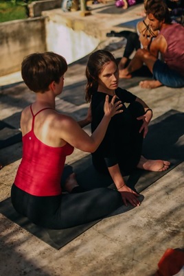
[[[119,78],[131,78],[131,73],[145,63],[154,80],[140,82],[142,88],[184,87],[184,27],[171,23],[168,6],[163,1],[150,1],[146,13],[152,31],[158,30],[159,35],[150,44],[150,51],[139,49],[128,67],[119,70]],[[158,58],[159,52],[162,61]]]

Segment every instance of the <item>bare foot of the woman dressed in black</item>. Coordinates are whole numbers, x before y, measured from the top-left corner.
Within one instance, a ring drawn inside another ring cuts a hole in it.
[[[141,155],[137,168],[150,170],[151,172],[163,172],[164,170],[168,170],[169,166],[169,161],[146,159]]]

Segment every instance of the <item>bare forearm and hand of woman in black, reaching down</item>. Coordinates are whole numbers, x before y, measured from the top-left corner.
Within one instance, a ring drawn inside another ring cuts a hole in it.
[[[113,165],[112,167],[108,168],[108,172],[111,174],[111,177],[117,187],[117,190],[121,193],[122,199],[124,201],[124,205],[127,206],[127,200],[133,206],[139,206],[140,202],[137,199],[139,196],[136,192],[126,186],[122,173],[119,170],[119,165]]]

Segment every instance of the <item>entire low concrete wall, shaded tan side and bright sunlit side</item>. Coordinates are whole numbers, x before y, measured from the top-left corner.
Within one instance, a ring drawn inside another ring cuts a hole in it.
[[[60,8],[40,17],[1,23],[0,76],[20,71],[23,58],[36,51],[54,51],[65,56],[68,64],[90,54],[100,43],[93,34],[95,28],[64,14]]]

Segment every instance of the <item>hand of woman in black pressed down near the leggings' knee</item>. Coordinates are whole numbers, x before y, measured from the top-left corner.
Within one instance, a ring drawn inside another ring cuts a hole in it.
[[[128,205],[127,204],[127,200],[134,207],[137,207],[137,206],[141,205],[139,199],[137,198],[137,196],[139,196],[139,194],[137,194],[137,192],[134,192],[133,189],[130,189],[126,185],[124,185],[123,187],[121,187],[120,189],[118,189],[118,192],[120,192],[121,195],[122,195],[122,199],[124,201],[124,205],[126,205],[126,206]]]

